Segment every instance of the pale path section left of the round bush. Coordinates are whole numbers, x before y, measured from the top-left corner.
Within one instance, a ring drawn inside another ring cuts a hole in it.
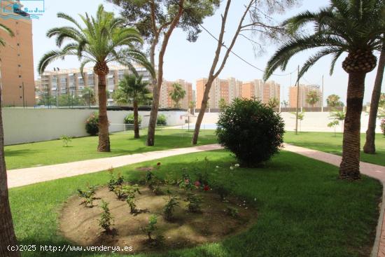
[[[173,155],[197,153],[217,149],[221,149],[221,146],[217,144],[211,144],[206,146],[195,146],[147,153],[135,153],[132,155],[123,155],[93,160],[81,160],[79,162],[68,162],[58,165],[48,165],[26,169],[12,169],[7,172],[8,188],[26,186],[33,183],[61,179],[69,176],[77,176],[80,174],[101,172],[111,167],[122,167],[125,165],[145,162],[147,160],[156,160]]]

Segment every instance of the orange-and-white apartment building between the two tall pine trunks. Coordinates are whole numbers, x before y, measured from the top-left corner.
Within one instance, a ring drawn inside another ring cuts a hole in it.
[[[160,99],[159,106],[160,108],[173,108],[175,103],[169,96],[169,93],[173,90],[173,84],[178,83],[182,86],[183,90],[186,91],[186,97],[181,99],[179,104],[181,104],[181,109],[188,109],[188,103],[193,101],[193,84],[190,82],[179,79],[176,81],[163,81],[162,88],[160,88]]]

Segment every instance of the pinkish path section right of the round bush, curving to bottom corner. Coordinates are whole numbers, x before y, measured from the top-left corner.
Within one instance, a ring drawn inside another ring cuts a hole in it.
[[[311,150],[308,148],[303,148],[299,146],[292,146],[285,144],[286,151],[298,153],[300,155],[307,156],[316,160],[321,160],[323,162],[330,163],[335,166],[339,166],[341,163],[341,156],[333,155],[330,153],[323,153],[316,150]],[[360,171],[362,174],[371,176],[374,179],[381,181],[385,185],[385,167],[380,165],[373,165],[367,162],[360,162]],[[385,191],[382,193],[382,201],[385,199]],[[385,204],[381,204],[381,212],[379,216],[379,222],[377,224],[377,235],[372,249],[371,257],[385,257],[385,219],[384,219],[384,209]]]

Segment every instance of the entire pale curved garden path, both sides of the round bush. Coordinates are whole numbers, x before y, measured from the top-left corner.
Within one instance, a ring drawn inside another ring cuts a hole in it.
[[[195,146],[188,148],[170,149],[165,151],[153,151],[147,153],[136,153],[133,155],[123,155],[110,158],[100,158],[94,160],[83,160],[79,162],[68,162],[59,165],[48,165],[41,167],[31,167],[26,169],[13,169],[7,172],[8,174],[8,188],[18,186],[27,186],[32,183],[43,181],[50,181],[54,179],[61,179],[69,176],[77,176],[80,174],[88,174],[93,172],[100,172],[111,167],[122,167],[138,162],[148,160],[156,160],[173,155],[182,155],[186,153],[197,153],[202,151],[218,150],[222,147],[218,144],[211,144],[205,146]],[[322,162],[327,162],[335,166],[339,166],[341,156],[330,153],[323,153],[321,151],[311,150],[299,146],[292,146],[285,144],[285,150],[300,155],[307,156]],[[379,165],[372,165],[367,162],[360,162],[361,173],[379,179],[381,183],[385,184],[385,167]],[[383,190],[383,197],[385,199],[385,191]],[[385,257],[385,219],[384,219],[385,204],[381,204],[381,213],[379,216],[379,223],[377,225],[377,235],[374,242],[371,257]]]

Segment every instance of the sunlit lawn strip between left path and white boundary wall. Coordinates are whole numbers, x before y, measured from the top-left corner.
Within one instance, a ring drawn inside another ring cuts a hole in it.
[[[20,169],[40,165],[52,165],[77,160],[88,160],[132,153],[190,147],[193,132],[162,129],[155,134],[155,146],[146,146],[147,130],[141,130],[141,138],[134,139],[134,132],[111,134],[111,152],[98,153],[98,137],[72,139],[69,147],[63,147],[61,140],[43,141],[31,144],[6,146],[7,169]],[[214,130],[201,130],[198,144],[214,144]]]

